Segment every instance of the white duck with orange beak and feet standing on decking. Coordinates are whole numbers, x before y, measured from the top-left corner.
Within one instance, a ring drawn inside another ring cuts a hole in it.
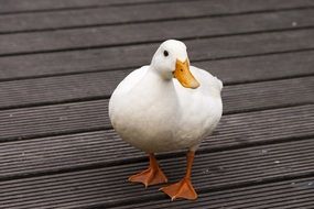
[[[149,156],[147,169],[129,177],[145,187],[167,183],[156,153],[186,150],[186,173],[160,190],[172,200],[197,199],[192,166],[202,140],[210,135],[223,114],[223,82],[190,65],[186,45],[164,41],[150,65],[130,73],[113,90],[109,118],[118,135]]]

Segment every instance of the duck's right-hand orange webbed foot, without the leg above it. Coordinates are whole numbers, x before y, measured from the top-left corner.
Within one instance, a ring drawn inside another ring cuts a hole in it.
[[[183,178],[178,183],[162,187],[160,190],[169,195],[172,201],[176,198],[197,199],[197,194],[195,193],[190,178]]]

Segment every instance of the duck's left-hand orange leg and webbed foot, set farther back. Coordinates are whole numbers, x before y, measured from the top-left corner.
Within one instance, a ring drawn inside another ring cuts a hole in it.
[[[145,187],[150,185],[156,185],[161,183],[167,183],[167,178],[160,168],[158,161],[153,153],[149,154],[150,165],[149,168],[129,177],[129,180],[132,183],[142,183]]]

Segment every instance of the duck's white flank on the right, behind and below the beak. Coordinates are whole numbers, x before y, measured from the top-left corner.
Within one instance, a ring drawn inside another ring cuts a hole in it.
[[[195,145],[217,127],[223,114],[220,91],[223,82],[209,73],[191,66],[191,72],[201,86],[187,89],[174,79],[181,103],[180,135]]]

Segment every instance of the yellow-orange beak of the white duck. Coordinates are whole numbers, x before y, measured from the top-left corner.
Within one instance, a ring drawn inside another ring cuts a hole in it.
[[[181,82],[185,88],[197,88],[199,87],[199,82],[194,78],[194,76],[190,72],[190,62],[186,59],[184,63],[176,59],[175,70],[173,72],[173,76]]]

